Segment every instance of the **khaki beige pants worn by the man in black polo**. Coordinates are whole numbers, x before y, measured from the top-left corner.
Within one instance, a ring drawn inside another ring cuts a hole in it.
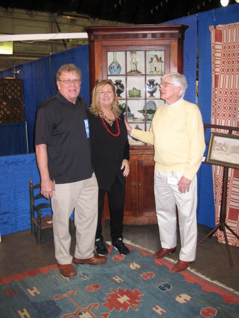
[[[93,173],[90,179],[55,184],[51,199],[55,258],[58,264],[71,264],[71,237],[69,218],[75,208],[75,257],[87,259],[94,256],[95,233],[98,219],[98,183]]]

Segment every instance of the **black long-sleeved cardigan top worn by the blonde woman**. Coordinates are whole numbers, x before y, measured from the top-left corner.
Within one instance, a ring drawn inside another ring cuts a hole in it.
[[[120,170],[123,159],[129,160],[129,142],[124,115],[120,114],[118,118],[120,135],[114,137],[106,130],[100,116],[96,117],[89,110],[87,114],[91,141],[91,162],[99,188],[110,190],[116,175],[122,185],[125,185],[124,169]],[[113,134],[118,133],[116,121],[112,126],[106,121],[105,124]]]

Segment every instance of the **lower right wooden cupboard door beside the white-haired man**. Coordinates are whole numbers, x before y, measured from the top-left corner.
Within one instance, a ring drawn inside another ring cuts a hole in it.
[[[138,174],[138,216],[156,217],[154,199],[154,161],[139,161]]]

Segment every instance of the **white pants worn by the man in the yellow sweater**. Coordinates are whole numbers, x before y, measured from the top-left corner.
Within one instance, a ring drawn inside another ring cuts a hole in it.
[[[174,172],[174,177],[180,180],[184,171]],[[171,172],[154,169],[154,195],[159,235],[162,248],[173,248],[177,245],[178,210],[181,250],[179,259],[193,261],[197,245],[197,176],[190,184],[189,192],[180,193],[177,185],[167,184]]]

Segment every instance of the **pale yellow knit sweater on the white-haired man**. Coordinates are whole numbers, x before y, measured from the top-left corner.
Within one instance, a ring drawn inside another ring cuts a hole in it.
[[[154,145],[155,169],[184,171],[192,180],[205,151],[203,121],[197,105],[182,100],[157,108],[149,131],[133,129],[131,136]]]

